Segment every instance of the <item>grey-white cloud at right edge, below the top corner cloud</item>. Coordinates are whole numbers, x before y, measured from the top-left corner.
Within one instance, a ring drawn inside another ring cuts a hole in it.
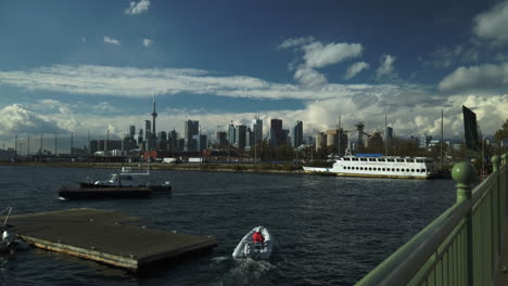
[[[453,90],[488,90],[508,87],[508,63],[459,67],[441,80],[439,88]]]

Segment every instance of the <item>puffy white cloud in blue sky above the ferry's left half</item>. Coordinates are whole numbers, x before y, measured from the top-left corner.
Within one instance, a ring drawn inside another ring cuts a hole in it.
[[[305,51],[305,64],[312,68],[321,68],[361,55],[364,47],[360,43],[344,42],[323,46],[317,41],[305,44],[302,49]]]

